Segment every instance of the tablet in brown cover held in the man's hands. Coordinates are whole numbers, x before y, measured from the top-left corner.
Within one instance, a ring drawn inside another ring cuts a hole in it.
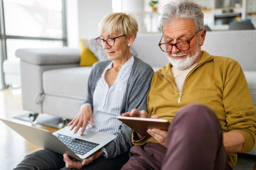
[[[168,130],[169,121],[166,119],[154,119],[154,118],[135,118],[135,117],[125,117],[117,116],[117,119],[122,121],[122,123],[132,128],[135,132],[143,136],[150,136],[146,130],[148,128],[158,128],[161,130]]]

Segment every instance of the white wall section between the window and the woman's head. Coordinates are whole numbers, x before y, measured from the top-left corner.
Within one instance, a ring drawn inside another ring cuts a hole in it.
[[[68,0],[68,46],[79,47],[80,39],[99,36],[99,22],[111,12],[111,0]]]

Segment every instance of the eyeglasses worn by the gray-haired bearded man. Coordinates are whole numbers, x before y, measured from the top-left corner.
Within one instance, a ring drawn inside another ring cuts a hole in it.
[[[176,43],[170,43],[170,42],[164,42],[161,43],[162,38],[164,37],[164,35],[161,36],[161,40],[159,41],[159,47],[161,48],[161,50],[163,52],[171,52],[172,48],[175,46],[176,48],[178,48],[178,50],[181,51],[186,51],[190,48],[190,42],[191,40],[196,36],[196,34],[199,32],[200,30],[198,30],[195,35],[193,35],[191,37],[190,40],[186,40],[186,41],[181,41],[181,42],[176,42]]]

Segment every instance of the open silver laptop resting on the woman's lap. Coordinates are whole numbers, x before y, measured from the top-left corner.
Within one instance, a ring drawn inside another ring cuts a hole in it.
[[[116,137],[112,134],[92,130],[85,130],[84,135],[80,135],[81,128],[74,134],[74,130],[70,130],[68,126],[51,133],[48,130],[23,125],[10,120],[1,118],[0,120],[33,145],[59,154],[68,154],[70,157],[80,161],[90,157],[90,155],[97,152],[97,150],[107,145]]]

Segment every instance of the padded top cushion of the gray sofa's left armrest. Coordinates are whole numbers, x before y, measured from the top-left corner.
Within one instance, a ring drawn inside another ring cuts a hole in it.
[[[24,62],[36,65],[78,64],[79,48],[21,48],[16,50],[16,57]]]

